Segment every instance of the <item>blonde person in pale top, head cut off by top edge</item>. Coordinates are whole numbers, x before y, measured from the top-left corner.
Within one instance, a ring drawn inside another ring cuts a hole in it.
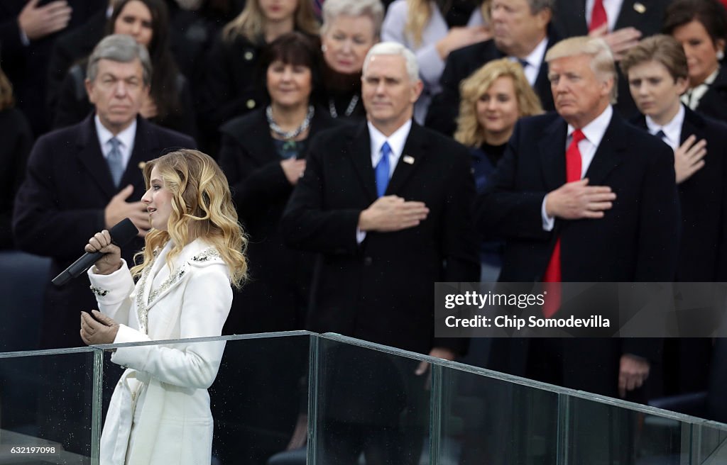
[[[489,0],[395,0],[387,10],[382,41],[403,44],[417,55],[424,91],[414,106],[423,124],[449,52],[486,41]]]

